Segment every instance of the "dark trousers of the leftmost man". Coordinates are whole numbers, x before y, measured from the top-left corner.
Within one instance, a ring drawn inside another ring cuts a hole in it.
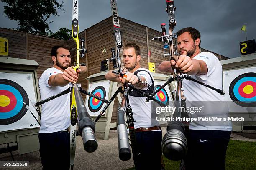
[[[39,133],[43,170],[69,170],[70,135],[68,132]]]

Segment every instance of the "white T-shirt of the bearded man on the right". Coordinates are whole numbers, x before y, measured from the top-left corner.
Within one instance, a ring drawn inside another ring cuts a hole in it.
[[[193,59],[202,60],[206,63],[208,72],[205,75],[192,75],[195,80],[203,82],[207,85],[215,87],[217,89],[222,89],[222,66],[218,58],[210,53],[210,52],[201,52],[196,55]],[[211,109],[205,110],[205,112],[201,114],[197,114],[196,116],[201,117],[227,117],[228,116],[228,105],[222,105],[225,102],[225,95],[220,95],[216,91],[200,85],[196,82],[189,81],[184,79],[182,81],[183,89],[184,89],[184,97],[186,97],[186,101],[202,101],[204,105],[211,105],[212,103],[217,103],[221,105],[221,110],[218,108],[218,105],[215,105]],[[206,102],[208,101],[208,102]],[[218,101],[212,102],[209,101]],[[193,117],[195,115],[191,115]],[[216,120],[217,121],[217,120]],[[191,122],[189,124],[190,129],[193,130],[232,130],[230,121],[220,121],[218,122]]]

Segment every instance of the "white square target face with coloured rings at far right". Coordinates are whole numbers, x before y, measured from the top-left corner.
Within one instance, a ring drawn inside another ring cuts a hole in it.
[[[236,104],[235,108],[230,107],[230,112],[256,111],[255,70],[254,67],[223,72],[224,90],[226,93],[228,92],[225,99]]]

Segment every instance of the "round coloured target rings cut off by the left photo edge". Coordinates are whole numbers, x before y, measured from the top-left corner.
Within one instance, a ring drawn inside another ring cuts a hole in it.
[[[13,102],[15,102],[14,108],[7,112],[5,110],[8,110],[8,108],[10,109],[8,104],[6,106],[0,106],[0,125],[8,125],[17,122],[27,112],[27,109],[23,104],[23,102],[26,102],[26,105],[29,105],[29,98],[26,91],[23,87],[18,85],[18,83],[7,79],[0,79],[0,91],[6,91],[9,92],[9,94],[12,94],[13,98],[10,99],[10,103],[14,104]],[[8,98],[8,96],[5,96],[5,93],[0,94],[0,96]]]

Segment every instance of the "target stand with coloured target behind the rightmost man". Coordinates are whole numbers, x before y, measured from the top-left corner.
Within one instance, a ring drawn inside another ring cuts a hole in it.
[[[232,121],[232,130],[243,131],[245,127],[256,130],[256,53],[220,63],[229,117],[244,118],[244,121]]]

